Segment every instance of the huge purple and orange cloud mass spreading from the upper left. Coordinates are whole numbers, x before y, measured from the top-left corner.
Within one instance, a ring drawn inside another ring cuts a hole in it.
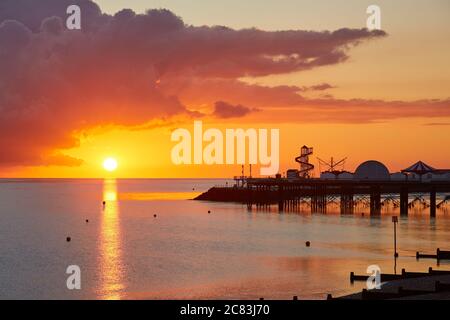
[[[81,7],[81,31],[65,28],[72,4]],[[83,130],[203,116],[194,109],[204,104],[221,118],[255,110],[246,106],[288,107],[299,115],[319,110],[310,113],[312,120],[323,120],[325,114],[340,120],[337,110],[361,107],[367,107],[366,120],[379,118],[378,113],[389,117],[393,109],[383,102],[308,100],[299,94],[301,87],[239,80],[342,63],[353,46],[385,35],[348,28],[269,32],[197,27],[168,10],[136,14],[124,9],[107,15],[90,0],[2,0],[0,165],[78,165],[79,159],[57,150],[77,146]],[[331,87],[319,84],[309,90]],[[438,106],[442,102],[430,103],[420,108],[443,109]],[[442,112],[448,114],[446,106]],[[394,107],[411,109],[400,102]],[[420,108],[412,107],[423,113]]]

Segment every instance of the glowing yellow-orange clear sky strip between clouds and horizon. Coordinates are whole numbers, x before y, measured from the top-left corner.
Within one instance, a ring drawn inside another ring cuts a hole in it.
[[[426,126],[426,119],[408,119],[377,124],[314,124],[295,125],[285,123],[281,126],[271,126],[261,123],[262,127],[280,128],[281,172],[288,168],[296,168],[294,158],[299,153],[303,142],[314,147],[312,163],[318,162],[315,156],[328,160],[331,156],[348,157],[345,169],[355,167],[367,160],[377,159],[385,163],[391,171],[398,171],[412,164],[415,160],[425,162],[440,168],[448,168],[450,158],[449,148],[446,148],[444,131],[450,133],[448,127]],[[182,127],[182,126],[180,126]],[[193,124],[185,127],[192,130]],[[204,123],[205,130],[209,127],[237,128],[242,123],[211,124]],[[399,127],[401,130],[399,130]],[[424,134],[415,134],[422,131]],[[144,130],[108,130],[82,139],[80,147],[65,151],[68,155],[81,158],[81,166],[38,166],[20,168],[17,174],[14,170],[7,171],[5,176],[22,177],[232,177],[240,175],[238,165],[180,165],[171,163],[170,151],[175,143],[170,142],[171,127]],[[295,137],[293,139],[292,137]],[[430,139],[430,137],[437,137]],[[441,137],[441,138],[439,138]],[[115,157],[119,168],[114,173],[106,173],[102,162],[106,157]],[[245,168],[248,174],[248,167]],[[258,167],[253,168],[253,174],[258,174]]]

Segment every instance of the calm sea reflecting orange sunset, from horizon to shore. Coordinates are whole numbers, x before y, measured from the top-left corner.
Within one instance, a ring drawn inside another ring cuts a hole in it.
[[[360,290],[349,273],[372,264],[450,269],[415,259],[450,249],[446,210],[399,220],[395,264],[391,209],[280,214],[187,200],[216,184],[224,180],[0,180],[0,298],[323,299]],[[81,269],[81,290],[67,289],[69,265]]]

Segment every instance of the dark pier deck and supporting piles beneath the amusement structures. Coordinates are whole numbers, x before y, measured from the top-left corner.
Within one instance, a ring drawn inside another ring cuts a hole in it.
[[[342,213],[352,213],[356,197],[366,197],[371,214],[380,214],[382,195],[398,199],[396,205],[401,215],[408,214],[411,193],[427,194],[432,217],[436,216],[436,194],[450,193],[449,181],[367,181],[323,180],[286,178],[248,178],[241,186],[213,187],[196,200],[239,202],[253,204],[278,204],[280,211],[304,201],[315,212],[326,212],[327,204],[339,197]]]

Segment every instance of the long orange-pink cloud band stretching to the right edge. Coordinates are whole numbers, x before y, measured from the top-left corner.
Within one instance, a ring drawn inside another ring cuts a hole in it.
[[[375,99],[338,99],[303,96],[303,87],[263,86],[236,79],[178,79],[164,88],[177,92],[182,101],[195,105],[214,105],[223,100],[230,104],[257,106],[255,121],[273,122],[371,122],[409,117],[450,117],[450,99],[389,101]],[[270,118],[261,119],[264,111]],[[282,109],[282,110],[281,110]]]

